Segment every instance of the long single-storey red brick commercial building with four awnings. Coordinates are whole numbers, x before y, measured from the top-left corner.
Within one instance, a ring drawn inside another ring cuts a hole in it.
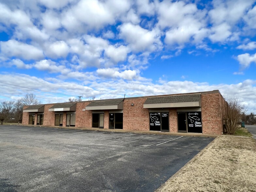
[[[22,124],[221,134],[219,90],[24,106]]]

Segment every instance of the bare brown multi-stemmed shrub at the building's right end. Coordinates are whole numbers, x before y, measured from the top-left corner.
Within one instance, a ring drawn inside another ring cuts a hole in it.
[[[244,105],[237,98],[229,98],[222,107],[223,131],[227,134],[234,134],[240,123],[242,114],[245,112]]]

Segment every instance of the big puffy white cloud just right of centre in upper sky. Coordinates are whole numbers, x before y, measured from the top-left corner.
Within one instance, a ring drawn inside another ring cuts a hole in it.
[[[157,29],[150,31],[139,25],[124,23],[120,26],[120,37],[123,38],[135,52],[153,52],[162,48],[162,42],[160,40],[161,32]]]

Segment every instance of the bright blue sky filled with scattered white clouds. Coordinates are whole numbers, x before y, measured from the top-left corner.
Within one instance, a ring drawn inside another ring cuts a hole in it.
[[[0,0],[0,102],[212,91],[256,114],[255,0]]]

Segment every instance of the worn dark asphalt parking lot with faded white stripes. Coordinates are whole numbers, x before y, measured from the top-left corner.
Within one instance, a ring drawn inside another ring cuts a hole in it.
[[[213,139],[1,125],[0,191],[150,192]]]

